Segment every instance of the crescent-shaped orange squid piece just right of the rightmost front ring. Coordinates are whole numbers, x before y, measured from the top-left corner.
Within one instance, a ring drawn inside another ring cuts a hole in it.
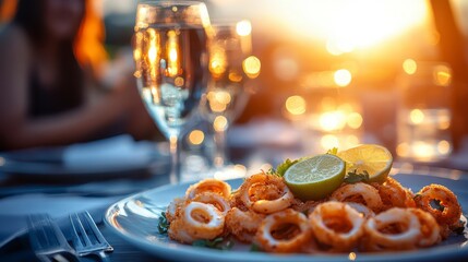
[[[421,224],[421,239],[418,241],[419,247],[429,247],[441,241],[441,228],[435,218],[428,212],[420,209],[408,209],[419,219]]]

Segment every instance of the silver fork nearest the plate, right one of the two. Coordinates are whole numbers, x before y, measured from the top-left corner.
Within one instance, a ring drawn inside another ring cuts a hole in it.
[[[103,234],[87,211],[70,214],[70,222],[73,227],[73,246],[80,257],[89,254],[99,255],[101,261],[109,261],[106,252],[113,248],[106,241]]]

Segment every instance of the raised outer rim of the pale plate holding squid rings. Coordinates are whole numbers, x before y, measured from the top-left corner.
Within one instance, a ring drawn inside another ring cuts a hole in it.
[[[416,175],[416,174],[396,174],[400,176],[413,176],[413,177],[436,177],[441,178],[439,176],[430,176],[430,175]],[[395,175],[393,175],[395,176]],[[442,178],[449,181],[458,181],[454,178]],[[242,178],[226,180],[227,182],[235,183],[239,180],[242,180]],[[161,258],[168,258],[168,259],[176,259],[177,261],[182,261],[182,257],[185,259],[188,255],[191,255],[190,259],[193,261],[206,261],[207,259],[212,260],[219,260],[223,259],[224,261],[285,261],[285,259],[293,259],[295,261],[349,261],[349,253],[344,254],[326,254],[326,253],[320,253],[320,254],[301,254],[301,253],[295,253],[295,254],[285,254],[285,255],[278,255],[275,253],[265,253],[265,252],[244,252],[239,251],[236,252],[239,255],[242,255],[242,258],[237,257],[232,258],[229,254],[229,251],[223,251],[223,250],[213,250],[213,249],[203,249],[203,248],[196,248],[183,243],[177,243],[172,242],[168,245],[167,242],[148,242],[144,241],[141,238],[131,237],[128,234],[123,234],[121,230],[119,230],[109,219],[115,211],[115,209],[120,205],[121,203],[127,203],[131,201],[132,199],[136,199],[139,196],[148,194],[148,193],[157,193],[159,191],[164,192],[167,190],[173,190],[175,188],[188,188],[190,184],[192,184],[195,181],[189,181],[178,184],[165,184],[161,187],[148,189],[132,195],[129,195],[122,200],[119,200],[115,203],[112,203],[105,212],[104,214],[104,222],[108,228],[111,229],[112,233],[115,233],[117,236],[123,238],[128,243],[133,245],[136,248],[143,249],[146,252],[161,257]],[[468,180],[465,180],[468,184]],[[178,253],[177,258],[173,257],[175,253]],[[247,255],[248,254],[248,255]],[[415,259],[427,259],[427,260],[434,260],[437,258],[447,258],[447,255],[457,255],[457,258],[467,257],[468,258],[468,240],[463,246],[457,245],[451,245],[451,246],[442,246],[442,247],[433,247],[433,248],[425,248],[425,249],[417,249],[411,251],[400,251],[400,252],[380,252],[380,253],[357,253],[358,260],[360,261],[388,261],[389,259],[396,260],[396,261],[413,261]],[[196,257],[196,258],[195,258]],[[244,258],[245,257],[245,258]]]

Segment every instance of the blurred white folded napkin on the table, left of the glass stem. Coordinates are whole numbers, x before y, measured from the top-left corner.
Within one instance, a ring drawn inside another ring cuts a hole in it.
[[[63,152],[63,165],[70,169],[135,168],[148,164],[155,154],[153,143],[119,135],[68,146]]]

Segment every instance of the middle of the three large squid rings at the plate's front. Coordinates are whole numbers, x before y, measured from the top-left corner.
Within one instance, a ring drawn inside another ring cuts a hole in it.
[[[328,201],[309,215],[315,238],[333,251],[349,251],[364,234],[365,219],[346,203]]]

